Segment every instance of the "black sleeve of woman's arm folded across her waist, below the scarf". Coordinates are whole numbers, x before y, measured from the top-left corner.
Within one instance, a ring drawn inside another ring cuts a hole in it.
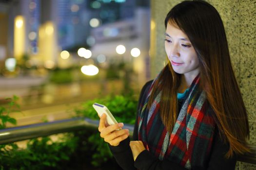
[[[225,158],[228,150],[229,145],[224,144],[219,135],[215,134],[207,170],[235,170],[236,156],[229,159]],[[138,155],[134,165],[139,170],[187,170],[169,160],[160,161],[147,150]]]

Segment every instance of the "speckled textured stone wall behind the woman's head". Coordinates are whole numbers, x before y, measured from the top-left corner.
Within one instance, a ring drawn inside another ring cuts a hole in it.
[[[151,0],[151,77],[166,62],[164,18],[181,0]],[[256,144],[256,0],[207,0],[219,12],[227,34],[236,78],[248,111],[249,143]],[[256,165],[237,162],[236,170],[256,170]]]

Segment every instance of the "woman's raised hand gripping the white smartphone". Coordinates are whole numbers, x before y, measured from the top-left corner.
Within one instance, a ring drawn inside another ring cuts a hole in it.
[[[121,129],[123,123],[106,125],[106,119],[106,114],[103,114],[99,120],[98,131],[100,132],[100,137],[104,138],[104,141],[110,145],[118,146],[122,140],[129,136],[129,130]]]

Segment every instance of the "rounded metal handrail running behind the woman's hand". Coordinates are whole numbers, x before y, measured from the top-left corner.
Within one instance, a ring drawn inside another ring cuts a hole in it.
[[[1,129],[0,144],[8,144],[16,141],[31,139],[40,136],[49,136],[64,132],[84,130],[85,128],[97,129],[98,123],[98,120],[92,120],[88,118],[74,118]],[[129,129],[130,136],[133,135],[133,125],[124,124],[124,128]],[[256,145],[249,146],[252,153],[238,155],[237,160],[240,162],[256,164]]]

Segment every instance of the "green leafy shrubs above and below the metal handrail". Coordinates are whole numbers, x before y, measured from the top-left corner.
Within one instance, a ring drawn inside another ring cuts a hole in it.
[[[8,107],[0,106],[1,128],[5,128],[7,122],[16,124],[9,113],[19,108],[16,103],[18,97],[8,100]],[[92,107],[94,102],[106,105],[118,122],[135,122],[137,101],[132,95],[108,96],[84,102],[75,109],[77,116],[98,119]],[[98,130],[64,133],[58,141],[52,141],[49,136],[30,139],[26,149],[19,148],[15,143],[0,145],[0,170],[74,170],[99,166],[120,169]]]

